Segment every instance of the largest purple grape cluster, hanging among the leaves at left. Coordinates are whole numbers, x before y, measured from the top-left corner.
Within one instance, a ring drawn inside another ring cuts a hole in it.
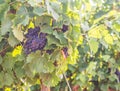
[[[28,33],[25,34],[26,42],[24,43],[24,51],[26,54],[35,52],[36,50],[43,50],[47,43],[45,33],[40,32],[40,27],[28,29]]]

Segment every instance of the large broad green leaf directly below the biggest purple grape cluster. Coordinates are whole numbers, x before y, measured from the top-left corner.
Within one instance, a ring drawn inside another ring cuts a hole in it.
[[[30,69],[35,73],[51,73],[54,70],[52,62],[47,57],[41,57],[39,51],[29,54],[27,63],[29,63]]]

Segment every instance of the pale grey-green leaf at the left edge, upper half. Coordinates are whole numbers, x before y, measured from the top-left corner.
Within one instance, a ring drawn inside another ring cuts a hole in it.
[[[1,24],[1,35],[5,35],[7,32],[10,32],[12,22],[9,18],[5,18]]]

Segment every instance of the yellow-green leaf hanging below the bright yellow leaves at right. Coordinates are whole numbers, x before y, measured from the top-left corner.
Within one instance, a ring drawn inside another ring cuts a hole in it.
[[[98,51],[98,47],[99,47],[99,43],[94,40],[94,39],[91,39],[89,41],[89,46],[90,46],[90,50],[93,52],[93,53],[96,53]]]

